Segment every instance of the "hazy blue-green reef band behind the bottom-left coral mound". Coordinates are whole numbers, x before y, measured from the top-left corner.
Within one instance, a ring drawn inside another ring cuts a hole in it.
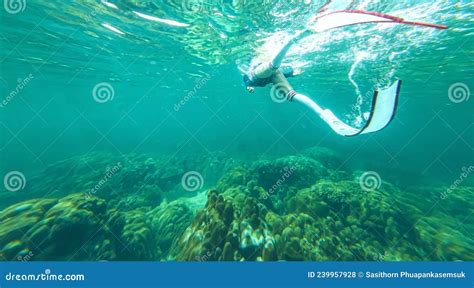
[[[184,173],[198,171],[205,179],[204,186],[211,186],[236,165],[222,153],[170,158],[95,152],[57,162],[31,175],[21,193],[0,190],[0,209],[29,199],[61,198],[71,193],[100,197],[121,211],[155,207],[163,199],[189,196],[181,185]]]

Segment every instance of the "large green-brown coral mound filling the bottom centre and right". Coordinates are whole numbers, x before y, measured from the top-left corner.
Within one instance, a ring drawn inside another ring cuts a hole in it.
[[[353,179],[323,178],[295,193],[265,197],[268,190],[259,184],[268,182],[270,178],[258,181],[242,169],[225,175],[217,187],[227,190],[209,194],[206,208],[175,243],[177,259],[395,261],[473,255],[472,240],[440,224],[447,215],[423,220],[413,197],[390,183],[364,191]],[[274,205],[275,198],[283,205]],[[469,201],[458,200],[463,205]]]

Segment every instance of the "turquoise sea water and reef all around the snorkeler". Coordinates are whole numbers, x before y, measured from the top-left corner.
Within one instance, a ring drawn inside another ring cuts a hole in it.
[[[0,260],[474,260],[472,1],[4,0]],[[290,82],[344,138],[242,71],[318,13],[449,26],[315,34]]]

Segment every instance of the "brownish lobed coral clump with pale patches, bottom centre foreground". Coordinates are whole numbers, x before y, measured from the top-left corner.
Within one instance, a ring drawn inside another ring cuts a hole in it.
[[[263,221],[265,207],[254,198],[236,197],[243,198],[238,210],[223,195],[209,193],[206,207],[175,243],[177,260],[276,260],[275,239]]]

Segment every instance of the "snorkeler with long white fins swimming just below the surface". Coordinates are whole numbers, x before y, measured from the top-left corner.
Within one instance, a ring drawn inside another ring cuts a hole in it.
[[[398,95],[400,94],[402,83],[401,80],[396,80],[395,83],[385,90],[374,90],[372,107],[365,125],[362,128],[354,128],[337,118],[331,110],[323,109],[310,97],[296,92],[288,82],[287,78],[293,77],[298,73],[295,73],[290,66],[281,66],[288,50],[290,50],[291,46],[299,40],[312,35],[313,33],[364,23],[405,24],[435,29],[448,28],[437,24],[405,21],[402,18],[386,14],[360,10],[336,11],[323,16],[317,16],[313,21],[311,21],[311,25],[308,25],[305,30],[297,33],[290,41],[288,41],[288,43],[278,51],[276,56],[274,56],[270,62],[261,63],[252,71],[244,75],[244,84],[247,91],[253,93],[255,87],[265,87],[268,84],[272,84],[272,93],[278,94],[278,97],[283,98],[283,100],[288,100],[289,102],[296,101],[307,106],[337,134],[342,136],[356,136],[359,134],[367,134],[382,130],[395,116]]]

